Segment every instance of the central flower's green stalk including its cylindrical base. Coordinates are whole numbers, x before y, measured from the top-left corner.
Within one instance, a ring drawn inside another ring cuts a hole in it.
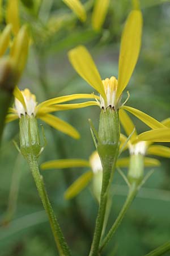
[[[96,256],[99,251],[99,244],[103,230],[105,212],[108,201],[108,192],[116,167],[116,160],[119,150],[120,128],[118,111],[114,112],[111,107],[101,109],[99,121],[99,141],[97,152],[100,156],[103,167],[103,180],[101,187],[100,205],[96,218],[94,238],[91,245],[90,256]]]

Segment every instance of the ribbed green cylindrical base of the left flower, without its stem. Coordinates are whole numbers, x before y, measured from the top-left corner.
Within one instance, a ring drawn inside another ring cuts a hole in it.
[[[19,119],[20,151],[25,159],[31,156],[38,158],[41,151],[39,127],[37,119],[31,115],[22,115]]]

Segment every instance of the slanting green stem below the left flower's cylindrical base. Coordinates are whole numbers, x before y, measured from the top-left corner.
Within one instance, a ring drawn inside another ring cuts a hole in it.
[[[52,232],[54,235],[54,239],[56,241],[56,245],[58,247],[59,255],[61,256],[70,256],[69,247],[63,237],[61,228],[59,227],[57,218],[54,214],[52,205],[50,204],[48,195],[46,193],[43,177],[40,175],[39,166],[37,164],[37,159],[35,156],[31,156],[28,160],[29,167],[31,168],[33,179],[35,180],[37,191],[39,192],[39,196],[41,198],[42,204],[46,213],[48,214],[50,226],[52,228]]]

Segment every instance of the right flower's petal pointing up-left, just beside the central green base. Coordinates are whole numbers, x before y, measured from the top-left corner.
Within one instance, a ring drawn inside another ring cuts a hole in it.
[[[131,139],[135,139],[137,137],[137,131],[135,129],[134,123],[123,109],[119,110],[119,118],[121,125],[124,127],[124,130],[126,131],[128,137],[134,131],[134,133],[131,135]]]

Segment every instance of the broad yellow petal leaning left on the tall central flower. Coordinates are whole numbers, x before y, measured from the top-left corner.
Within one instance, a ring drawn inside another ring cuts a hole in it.
[[[86,47],[78,46],[69,51],[69,60],[78,74],[83,77],[106,100],[103,82],[94,60]]]

